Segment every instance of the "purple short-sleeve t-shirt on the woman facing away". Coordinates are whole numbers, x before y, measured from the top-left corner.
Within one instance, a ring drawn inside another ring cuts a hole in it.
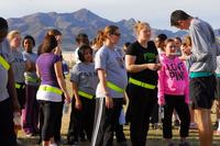
[[[41,74],[41,85],[59,88],[54,69],[54,64],[57,61],[61,61],[61,57],[53,53],[44,53],[36,59]]]

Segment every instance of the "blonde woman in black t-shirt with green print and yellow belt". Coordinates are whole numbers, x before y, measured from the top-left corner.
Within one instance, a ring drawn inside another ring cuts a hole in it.
[[[150,41],[151,26],[146,22],[134,25],[136,41],[125,54],[129,71],[131,142],[133,146],[145,146],[150,116],[156,104],[157,70],[161,68],[154,42]]]

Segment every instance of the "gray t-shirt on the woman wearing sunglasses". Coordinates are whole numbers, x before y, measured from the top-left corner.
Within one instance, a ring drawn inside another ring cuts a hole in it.
[[[106,70],[106,79],[116,86],[125,89],[128,85],[127,69],[123,60],[123,53],[119,48],[108,48],[103,45],[95,56],[95,68]],[[111,98],[123,98],[123,92],[107,88]],[[97,98],[103,98],[105,92],[98,83]]]

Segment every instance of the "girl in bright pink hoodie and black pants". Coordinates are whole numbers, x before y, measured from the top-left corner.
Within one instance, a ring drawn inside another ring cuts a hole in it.
[[[189,77],[185,64],[175,55],[174,40],[168,38],[164,46],[165,54],[161,54],[162,69],[158,70],[158,104],[164,108],[163,137],[167,146],[172,142],[172,115],[176,110],[180,120],[179,146],[188,146],[190,115],[189,115]]]

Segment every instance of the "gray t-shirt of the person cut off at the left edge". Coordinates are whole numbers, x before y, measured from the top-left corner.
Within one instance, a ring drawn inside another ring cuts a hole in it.
[[[3,42],[0,43],[0,56],[3,57],[9,64],[13,61],[13,55],[11,54],[7,40],[3,40]],[[9,92],[7,89],[8,78],[8,70],[6,70],[2,65],[0,65],[0,101],[9,98]]]

